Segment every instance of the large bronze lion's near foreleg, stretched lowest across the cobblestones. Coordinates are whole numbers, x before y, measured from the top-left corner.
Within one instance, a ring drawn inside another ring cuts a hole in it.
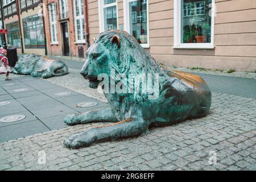
[[[86,147],[94,142],[140,135],[147,129],[148,123],[146,121],[128,118],[106,126],[92,127],[87,131],[72,135],[65,139],[64,145],[69,148]]]

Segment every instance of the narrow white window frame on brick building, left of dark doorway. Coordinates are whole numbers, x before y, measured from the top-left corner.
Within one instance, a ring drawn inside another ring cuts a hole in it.
[[[53,5],[54,9],[53,9],[53,22],[52,22],[52,15],[51,15],[51,6]],[[49,3],[49,11],[48,11],[48,14],[49,14],[49,24],[50,24],[50,34],[51,34],[51,44],[59,44],[58,42],[58,37],[57,37],[57,21],[56,21],[56,3],[55,2],[52,2],[52,3]],[[52,25],[55,26],[55,31],[53,32],[52,31]],[[52,35],[55,35],[55,40],[56,41],[53,41],[53,36]]]

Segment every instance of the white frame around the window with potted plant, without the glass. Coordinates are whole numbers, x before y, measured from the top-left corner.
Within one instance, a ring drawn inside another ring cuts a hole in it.
[[[181,1],[174,0],[174,47],[176,49],[214,49],[215,0],[212,0],[210,43],[181,43]]]

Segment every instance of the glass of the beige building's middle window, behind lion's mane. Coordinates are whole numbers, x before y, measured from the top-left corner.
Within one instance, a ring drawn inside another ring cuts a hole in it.
[[[129,3],[130,34],[138,43],[147,44],[147,0]]]

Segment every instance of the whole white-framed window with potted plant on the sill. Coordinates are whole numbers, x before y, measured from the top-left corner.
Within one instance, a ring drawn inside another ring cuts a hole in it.
[[[214,48],[214,1],[175,0],[176,48]]]

